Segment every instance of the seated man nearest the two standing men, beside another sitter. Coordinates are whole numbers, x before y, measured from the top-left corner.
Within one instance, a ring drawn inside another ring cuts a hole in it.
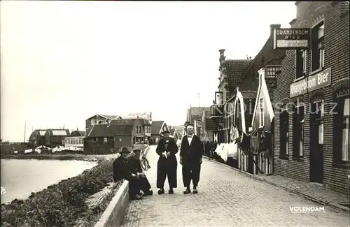
[[[148,182],[146,175],[142,171],[140,153],[141,149],[134,149],[133,155],[127,157],[127,163],[129,164],[132,173],[139,177],[140,189],[144,191],[145,196],[151,196],[153,195],[153,191],[151,190],[150,182]]]

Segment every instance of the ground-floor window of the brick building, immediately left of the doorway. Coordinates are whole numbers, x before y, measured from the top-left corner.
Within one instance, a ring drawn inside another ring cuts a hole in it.
[[[295,107],[293,141],[293,156],[302,157],[304,148],[304,105]]]

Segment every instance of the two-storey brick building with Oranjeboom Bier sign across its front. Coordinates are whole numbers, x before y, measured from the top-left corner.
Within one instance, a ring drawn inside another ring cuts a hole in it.
[[[290,27],[311,29],[311,42],[281,63],[274,172],[349,194],[349,2],[295,5]]]

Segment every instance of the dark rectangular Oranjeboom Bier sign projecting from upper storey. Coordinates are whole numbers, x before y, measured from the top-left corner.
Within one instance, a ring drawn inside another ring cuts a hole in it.
[[[275,29],[274,49],[309,49],[311,29]]]

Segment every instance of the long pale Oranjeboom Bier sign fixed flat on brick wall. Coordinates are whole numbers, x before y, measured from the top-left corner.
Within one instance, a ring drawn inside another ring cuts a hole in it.
[[[300,96],[310,91],[314,91],[321,87],[330,85],[332,82],[332,74],[330,68],[311,75],[307,78],[294,82],[290,85],[290,98]]]

